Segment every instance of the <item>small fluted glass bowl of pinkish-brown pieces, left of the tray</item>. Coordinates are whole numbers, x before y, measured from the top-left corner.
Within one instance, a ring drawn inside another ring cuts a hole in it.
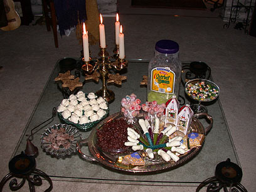
[[[81,134],[77,128],[67,124],[55,124],[41,135],[41,147],[54,157],[70,156],[77,152],[77,141]]]

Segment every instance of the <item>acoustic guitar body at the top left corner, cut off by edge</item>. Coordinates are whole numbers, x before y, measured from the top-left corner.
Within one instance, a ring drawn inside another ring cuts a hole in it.
[[[21,25],[21,18],[19,17],[19,14],[16,12],[14,7],[15,6],[13,0],[4,0],[4,9],[6,11],[8,25],[0,28],[3,31],[11,31],[19,28]]]

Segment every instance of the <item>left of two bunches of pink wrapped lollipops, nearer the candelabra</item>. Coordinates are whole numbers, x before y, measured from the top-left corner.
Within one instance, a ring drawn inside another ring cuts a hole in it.
[[[137,96],[132,93],[126,95],[121,101],[121,112],[128,124],[134,124],[141,110],[141,100],[137,99]]]

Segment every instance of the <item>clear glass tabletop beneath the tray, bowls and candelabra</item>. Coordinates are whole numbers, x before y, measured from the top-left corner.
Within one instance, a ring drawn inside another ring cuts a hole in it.
[[[188,62],[184,62],[188,63]],[[120,111],[120,101],[125,95],[135,93],[142,103],[146,102],[146,87],[142,87],[140,82],[142,76],[147,75],[148,61],[146,60],[129,60],[127,70],[120,73],[125,75],[127,80],[122,83],[122,86],[108,85],[107,87],[114,91],[115,100],[109,105],[109,114],[115,114]],[[53,72],[50,75],[48,82],[41,94],[40,100],[29,119],[26,128],[16,146],[13,156],[21,154],[26,148],[26,139],[36,125],[51,117],[53,107],[58,107],[63,99],[62,93],[58,90],[54,81],[58,76],[60,67],[58,61]],[[84,77],[80,77],[83,82]],[[96,92],[102,87],[102,82],[86,82],[83,85],[83,92]],[[184,96],[184,87],[181,83],[180,95],[186,99],[185,103],[189,104],[189,100]],[[221,97],[221,95],[220,95]],[[160,173],[126,173],[117,171],[103,166],[100,163],[91,163],[83,160],[77,154],[64,159],[51,157],[46,154],[40,146],[40,137],[43,131],[54,124],[60,124],[58,116],[54,117],[51,122],[41,125],[33,131],[33,144],[38,147],[39,154],[36,157],[36,168],[48,174],[51,179],[70,180],[70,181],[86,181],[97,183],[117,183],[117,184],[161,184],[169,185],[170,183],[182,184],[183,186],[198,185],[211,176],[214,176],[215,168],[221,161],[226,161],[228,158],[233,163],[238,162],[237,154],[233,146],[232,137],[228,129],[225,115],[221,109],[220,100],[216,99],[207,106],[208,114],[213,117],[214,123],[211,131],[205,138],[203,147],[198,155],[188,161],[188,163],[179,166],[178,168],[161,171]],[[203,125],[208,125],[203,119]],[[82,138],[90,136],[90,131],[81,132]],[[82,148],[83,152],[90,156],[88,147]]]

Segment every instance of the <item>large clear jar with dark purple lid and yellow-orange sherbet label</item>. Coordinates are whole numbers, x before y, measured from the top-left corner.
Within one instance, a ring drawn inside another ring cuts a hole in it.
[[[175,41],[160,40],[155,46],[154,58],[149,62],[147,101],[166,103],[173,95],[179,96],[181,82],[179,45]]]

